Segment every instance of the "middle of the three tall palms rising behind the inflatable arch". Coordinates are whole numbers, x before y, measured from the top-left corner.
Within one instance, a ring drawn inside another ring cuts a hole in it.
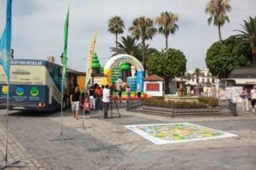
[[[143,45],[143,67],[145,68],[145,41],[152,39],[156,33],[156,28],[154,28],[153,20],[142,16],[133,20],[132,26],[129,28],[131,31],[131,36],[142,40]]]

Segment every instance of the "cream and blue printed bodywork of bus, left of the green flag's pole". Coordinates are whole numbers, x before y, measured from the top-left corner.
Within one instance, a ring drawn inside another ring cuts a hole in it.
[[[7,99],[6,77],[0,65],[0,104]],[[61,107],[61,65],[37,59],[12,59],[9,85],[10,105]],[[43,106],[44,106],[43,105]]]

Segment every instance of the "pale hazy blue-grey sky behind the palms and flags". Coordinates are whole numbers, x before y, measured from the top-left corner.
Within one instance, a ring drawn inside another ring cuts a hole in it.
[[[208,26],[209,15],[204,10],[209,0],[13,0],[12,48],[15,58],[46,59],[47,55],[59,56],[63,50],[63,26],[70,8],[67,65],[85,71],[90,39],[98,31],[96,53],[102,65],[112,54],[115,36],[108,32],[108,20],[119,15],[125,21],[125,32],[132,20],[140,16],[151,19],[161,12],[178,14],[179,30],[169,37],[169,47],[183,51],[187,69],[205,68],[207,48],[218,41],[218,28]],[[228,14],[230,23],[222,27],[222,37],[227,38],[241,30],[242,20],[255,16],[256,0],[231,0]],[[0,0],[0,33],[5,22],[6,0]],[[151,48],[165,48],[163,35],[148,40]]]

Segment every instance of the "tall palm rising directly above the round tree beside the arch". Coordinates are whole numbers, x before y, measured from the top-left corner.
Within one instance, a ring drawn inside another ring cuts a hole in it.
[[[168,37],[174,34],[178,30],[177,24],[177,14],[172,14],[171,12],[161,13],[159,17],[155,19],[155,23],[160,26],[158,32],[166,37],[166,57],[168,56]]]

